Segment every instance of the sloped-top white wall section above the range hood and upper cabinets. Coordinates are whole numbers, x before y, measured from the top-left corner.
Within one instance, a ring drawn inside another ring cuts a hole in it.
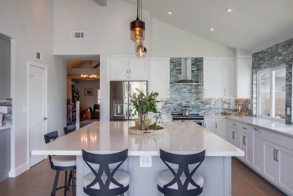
[[[150,57],[233,57],[233,50],[154,18]]]

